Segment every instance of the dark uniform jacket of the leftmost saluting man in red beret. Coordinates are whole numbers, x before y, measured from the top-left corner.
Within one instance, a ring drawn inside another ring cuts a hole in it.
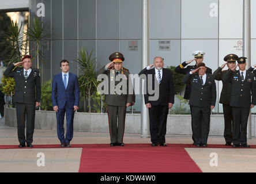
[[[39,70],[32,68],[26,80],[24,77],[24,68],[16,67],[14,70],[13,68],[15,68],[14,64],[10,64],[3,75],[13,77],[15,80],[14,101],[25,104],[40,102],[41,82]]]

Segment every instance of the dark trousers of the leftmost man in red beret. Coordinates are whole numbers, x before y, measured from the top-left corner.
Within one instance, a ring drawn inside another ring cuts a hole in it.
[[[18,141],[20,143],[33,142],[33,133],[35,129],[35,110],[36,110],[36,103],[23,104],[23,103],[16,102],[17,131],[18,131]],[[25,121],[27,122],[27,132],[26,132],[27,136],[25,136]]]

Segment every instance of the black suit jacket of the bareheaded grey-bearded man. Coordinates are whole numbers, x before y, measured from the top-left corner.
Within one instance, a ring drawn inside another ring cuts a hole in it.
[[[163,68],[163,76],[161,79],[161,83],[157,82],[155,68],[150,70],[146,70],[144,68],[139,75],[145,74],[147,82],[145,82],[146,94],[144,94],[145,104],[150,103],[151,105],[168,105],[168,103],[174,104],[174,81],[172,80],[172,72],[167,68]],[[149,74],[152,76],[152,90],[155,90],[155,85],[159,85],[159,98],[156,101],[149,101],[150,96],[155,96],[154,94],[149,93],[148,87],[148,78]]]

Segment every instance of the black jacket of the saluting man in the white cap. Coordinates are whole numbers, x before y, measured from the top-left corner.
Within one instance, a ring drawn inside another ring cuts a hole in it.
[[[183,62],[182,64],[180,64],[178,67],[175,68],[175,72],[179,73],[179,74],[187,74],[189,73],[190,71],[193,71],[197,68],[197,65],[195,64],[194,66],[187,66],[187,63],[186,62]],[[186,67],[186,68],[184,68]],[[206,67],[206,74],[212,74],[212,69]],[[184,94],[184,98],[185,99],[189,99],[190,97],[190,83],[187,83],[186,85],[186,89],[185,89],[185,94]]]

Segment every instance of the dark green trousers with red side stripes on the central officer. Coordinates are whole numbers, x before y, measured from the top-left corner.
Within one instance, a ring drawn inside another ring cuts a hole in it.
[[[111,143],[123,143],[125,133],[126,106],[108,105],[108,125]]]

